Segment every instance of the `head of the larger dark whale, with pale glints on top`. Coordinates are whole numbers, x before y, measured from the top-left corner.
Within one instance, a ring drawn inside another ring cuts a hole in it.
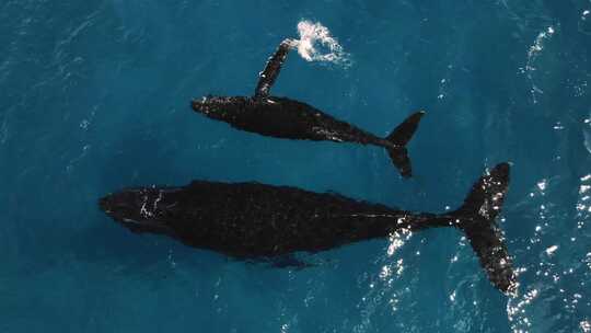
[[[129,188],[99,199],[99,207],[134,232],[171,233],[165,222],[167,206],[158,188]]]

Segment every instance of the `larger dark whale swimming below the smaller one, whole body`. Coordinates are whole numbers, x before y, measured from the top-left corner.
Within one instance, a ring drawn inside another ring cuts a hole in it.
[[[182,187],[128,188],[100,199],[101,209],[134,232],[173,237],[183,243],[241,260],[280,259],[352,242],[385,238],[399,229],[436,227],[462,230],[490,282],[512,291],[515,275],[495,219],[509,184],[500,163],[472,187],[464,204],[443,214],[413,213],[258,183],[195,181]]]

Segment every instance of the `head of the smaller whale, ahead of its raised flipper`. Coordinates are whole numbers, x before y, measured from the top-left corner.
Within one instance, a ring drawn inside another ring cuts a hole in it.
[[[210,118],[232,123],[250,105],[250,99],[243,96],[204,96],[193,100],[190,106],[197,113]]]

